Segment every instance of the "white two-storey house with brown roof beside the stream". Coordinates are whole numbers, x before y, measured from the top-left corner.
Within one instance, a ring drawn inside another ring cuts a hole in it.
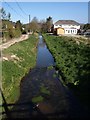
[[[59,20],[54,23],[54,33],[57,35],[77,34],[80,24],[74,20]]]

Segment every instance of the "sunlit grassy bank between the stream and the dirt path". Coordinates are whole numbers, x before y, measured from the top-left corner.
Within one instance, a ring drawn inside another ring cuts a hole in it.
[[[20,81],[36,64],[37,42],[38,36],[31,35],[3,51],[2,87],[8,103],[18,100]]]

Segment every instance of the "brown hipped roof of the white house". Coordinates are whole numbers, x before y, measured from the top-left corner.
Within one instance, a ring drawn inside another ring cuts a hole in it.
[[[78,22],[74,20],[58,20],[57,22],[54,23],[54,25],[63,25],[63,24],[80,25]]]

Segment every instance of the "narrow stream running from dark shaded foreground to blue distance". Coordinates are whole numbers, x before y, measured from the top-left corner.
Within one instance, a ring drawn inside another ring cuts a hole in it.
[[[55,66],[54,58],[40,35],[36,67],[21,80],[20,96],[12,108],[15,111],[11,111],[12,118],[59,120],[87,116],[68,88],[63,86],[55,68],[49,66]]]

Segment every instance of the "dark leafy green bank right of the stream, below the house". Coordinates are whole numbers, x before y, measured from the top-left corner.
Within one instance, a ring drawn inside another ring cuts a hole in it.
[[[90,105],[90,44],[64,36],[43,35],[56,61],[56,69],[65,85],[80,102]]]

